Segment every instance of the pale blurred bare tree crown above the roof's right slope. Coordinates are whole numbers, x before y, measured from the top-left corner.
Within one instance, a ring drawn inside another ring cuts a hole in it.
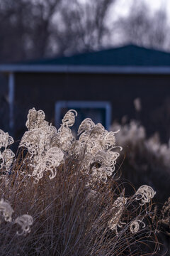
[[[134,2],[128,16],[120,18],[117,25],[125,43],[151,48],[168,46],[169,26],[164,9],[152,14],[146,4]]]

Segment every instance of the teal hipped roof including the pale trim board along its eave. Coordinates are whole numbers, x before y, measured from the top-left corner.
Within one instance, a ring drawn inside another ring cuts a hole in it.
[[[0,65],[0,73],[24,72],[170,75],[170,53],[130,45],[69,57]]]

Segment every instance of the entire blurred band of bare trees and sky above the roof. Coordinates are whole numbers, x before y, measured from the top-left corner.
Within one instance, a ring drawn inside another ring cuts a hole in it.
[[[166,5],[153,11],[144,0],[121,2],[1,0],[0,63],[126,43],[169,50]]]

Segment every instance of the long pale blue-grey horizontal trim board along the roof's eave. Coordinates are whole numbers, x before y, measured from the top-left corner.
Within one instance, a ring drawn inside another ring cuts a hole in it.
[[[1,73],[101,73],[101,74],[164,74],[170,66],[86,66],[86,65],[0,65]]]

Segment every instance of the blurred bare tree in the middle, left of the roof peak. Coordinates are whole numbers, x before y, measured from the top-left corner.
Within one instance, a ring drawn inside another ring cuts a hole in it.
[[[106,18],[114,3],[115,0],[98,0],[80,4],[73,0],[69,8],[62,6],[62,26],[58,31],[54,29],[53,35],[60,53],[92,50],[103,46],[103,38],[111,33]],[[69,1],[65,4],[68,6]]]

